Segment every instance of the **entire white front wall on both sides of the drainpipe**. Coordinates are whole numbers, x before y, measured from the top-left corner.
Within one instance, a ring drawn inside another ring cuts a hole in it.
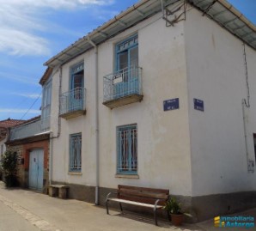
[[[191,189],[190,140],[187,111],[186,58],[183,22],[166,27],[158,14],[99,46],[100,186],[118,184],[169,188],[189,196]],[[109,109],[102,105],[103,76],[113,72],[114,46],[138,34],[139,66],[143,68],[143,101]],[[161,36],[160,36],[161,34]],[[95,185],[95,57],[94,50],[62,68],[62,92],[68,90],[70,66],[84,60],[87,89],[84,116],[61,119],[60,137],[53,141],[53,180]],[[59,71],[52,80],[52,131],[58,132]],[[180,99],[180,109],[163,111],[163,100]],[[138,179],[116,178],[116,128],[137,124]],[[82,132],[82,175],[70,175],[69,135]]]

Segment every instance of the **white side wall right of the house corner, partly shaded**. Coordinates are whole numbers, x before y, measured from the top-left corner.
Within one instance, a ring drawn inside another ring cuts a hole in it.
[[[241,100],[247,98],[242,41],[202,16],[186,14],[186,64],[192,145],[192,196],[253,191],[256,173],[247,173]],[[251,107],[247,114],[249,159],[256,131],[256,52],[246,46]],[[193,99],[204,100],[204,112]]]

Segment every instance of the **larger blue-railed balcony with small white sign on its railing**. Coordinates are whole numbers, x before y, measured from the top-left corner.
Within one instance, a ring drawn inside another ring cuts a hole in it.
[[[103,104],[111,109],[143,100],[140,67],[129,67],[104,76],[103,84]]]

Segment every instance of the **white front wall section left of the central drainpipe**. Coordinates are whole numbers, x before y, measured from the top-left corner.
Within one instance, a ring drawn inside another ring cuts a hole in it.
[[[60,136],[52,140],[52,179],[79,185],[94,185],[94,51],[87,52],[61,67],[62,93],[69,91],[70,67],[84,61],[84,87],[86,88],[85,115],[74,119],[60,119]],[[60,70],[52,81],[52,129],[58,135],[58,86]],[[82,133],[82,174],[69,173],[70,134]]]

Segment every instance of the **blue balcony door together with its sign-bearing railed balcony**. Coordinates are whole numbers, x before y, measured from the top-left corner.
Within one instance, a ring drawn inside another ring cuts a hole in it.
[[[110,108],[143,99],[137,34],[117,44],[115,51],[116,70],[104,77],[103,104]]]

